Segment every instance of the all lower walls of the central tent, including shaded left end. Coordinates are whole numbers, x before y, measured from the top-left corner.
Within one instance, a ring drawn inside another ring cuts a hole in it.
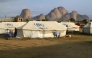
[[[18,30],[17,31],[17,36],[19,37],[31,37],[31,38],[48,38],[51,37],[53,38],[53,31],[51,30],[37,30],[37,31],[32,31],[32,30]],[[66,35],[66,30],[60,31],[60,37]]]

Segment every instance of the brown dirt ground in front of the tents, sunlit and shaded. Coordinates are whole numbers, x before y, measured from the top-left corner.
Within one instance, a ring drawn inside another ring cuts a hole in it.
[[[92,58],[92,36],[10,40],[0,38],[0,58]]]

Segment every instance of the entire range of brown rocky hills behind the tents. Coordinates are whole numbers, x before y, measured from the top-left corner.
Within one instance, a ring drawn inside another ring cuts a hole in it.
[[[29,9],[23,9],[20,16],[24,19],[32,18]],[[42,20],[42,19],[45,19],[45,16],[49,19],[49,21],[58,21],[58,20],[66,21],[70,18],[74,18],[76,21],[82,21],[83,19],[89,19],[87,15],[81,15],[77,11],[72,11],[68,13],[68,11],[64,7],[54,8],[47,15],[40,14],[40,15],[33,17],[33,19]]]

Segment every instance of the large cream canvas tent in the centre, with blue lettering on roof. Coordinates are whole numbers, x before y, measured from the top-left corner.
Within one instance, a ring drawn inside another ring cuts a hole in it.
[[[17,37],[54,37],[54,30],[59,30],[61,32],[60,37],[62,37],[66,35],[66,29],[66,26],[61,26],[56,21],[29,21],[25,26],[18,28]]]

